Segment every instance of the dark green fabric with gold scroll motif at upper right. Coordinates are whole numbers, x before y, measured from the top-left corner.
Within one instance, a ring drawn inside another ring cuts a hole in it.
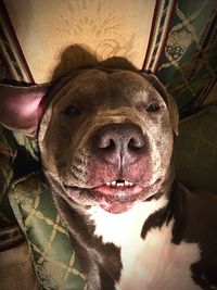
[[[216,1],[178,1],[156,73],[181,117],[217,99]]]

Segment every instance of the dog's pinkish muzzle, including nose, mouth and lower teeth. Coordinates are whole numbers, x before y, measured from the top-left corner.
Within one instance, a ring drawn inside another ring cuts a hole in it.
[[[92,201],[107,212],[128,211],[137,201],[155,191],[158,180],[152,180],[150,142],[139,125],[111,123],[98,128],[89,138],[90,162],[87,166],[87,188],[66,186],[82,191],[80,199]]]

